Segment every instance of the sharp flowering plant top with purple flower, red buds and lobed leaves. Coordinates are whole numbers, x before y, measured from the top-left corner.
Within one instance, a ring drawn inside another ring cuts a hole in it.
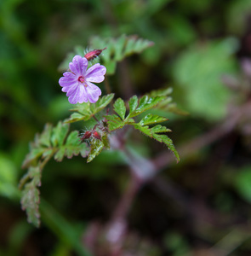
[[[175,109],[170,88],[153,90],[143,96],[132,96],[125,102],[120,97],[115,100],[113,93],[101,96],[101,90],[96,85],[104,81],[105,75],[114,73],[117,61],[122,61],[127,55],[140,53],[151,45],[151,42],[135,37],[105,40],[94,38],[91,43],[94,50],[84,53],[83,49],[78,48],[77,53],[70,55],[71,60],[68,57],[60,66],[66,69],[69,65],[59,84],[69,102],[74,104],[71,108],[73,113],[57,125],[46,124],[44,130],[35,136],[30,145],[30,153],[23,162],[27,172],[20,180],[21,205],[30,223],[37,227],[40,224],[38,188],[43,168],[52,158],[62,161],[64,157],[71,158],[80,154],[90,162],[102,150],[118,149],[126,152],[128,130],[132,128],[139,131],[139,136],[143,134],[163,143],[174,153],[176,160],[180,160],[167,135],[170,129],[160,125],[168,120],[167,117],[151,112],[162,109],[168,113]],[[97,63],[98,59],[103,65]],[[87,129],[89,120],[92,120],[93,125]],[[71,131],[71,123],[75,122],[81,122],[83,131]]]

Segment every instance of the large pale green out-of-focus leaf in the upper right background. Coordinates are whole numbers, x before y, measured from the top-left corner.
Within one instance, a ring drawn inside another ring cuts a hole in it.
[[[221,82],[221,76],[235,72],[236,50],[237,40],[225,38],[194,45],[180,55],[174,65],[174,79],[182,90],[180,98],[185,99],[185,109],[192,115],[208,120],[225,116],[231,92]]]

